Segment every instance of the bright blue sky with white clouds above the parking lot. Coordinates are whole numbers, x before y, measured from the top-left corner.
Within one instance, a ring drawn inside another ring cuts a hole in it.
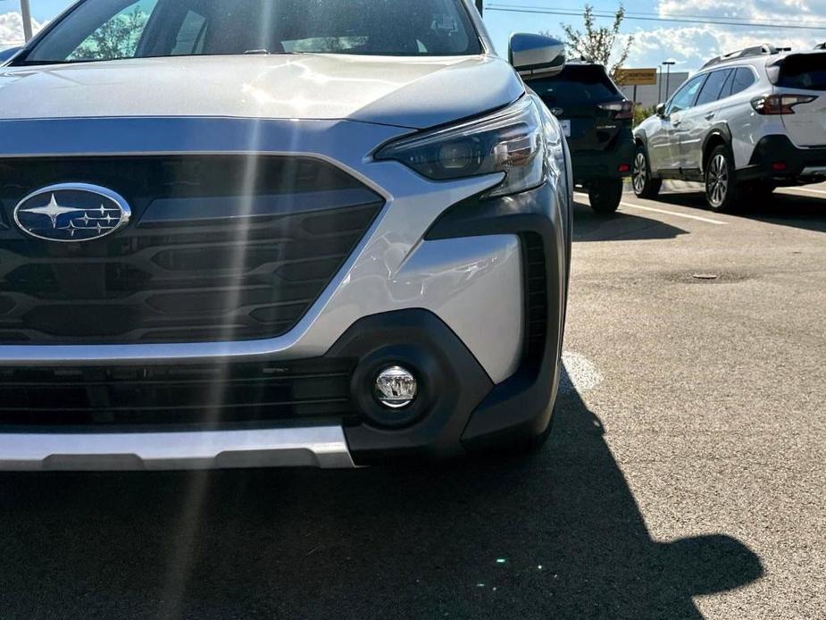
[[[30,0],[32,16],[42,24],[71,1]],[[581,29],[581,0],[485,0],[485,3],[488,7],[485,22],[497,51],[503,55],[512,32],[545,30],[561,35],[563,22]],[[592,0],[591,4],[597,12],[612,12],[619,5],[616,0]],[[677,63],[673,71],[694,71],[717,54],[745,46],[772,43],[811,49],[826,41],[826,0],[633,0],[626,5],[629,13],[646,18],[628,19],[623,24],[623,34],[634,37],[628,67],[656,67],[664,60],[673,60]],[[497,7],[511,11],[498,11]],[[513,12],[526,9],[576,14]],[[21,43],[19,10],[19,0],[0,0],[0,48]],[[661,21],[669,19],[672,21]]]

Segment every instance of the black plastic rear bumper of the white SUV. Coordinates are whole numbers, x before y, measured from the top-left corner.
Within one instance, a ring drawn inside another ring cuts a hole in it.
[[[765,136],[755,147],[740,180],[770,180],[777,185],[798,185],[826,180],[826,148],[798,148],[787,136]]]

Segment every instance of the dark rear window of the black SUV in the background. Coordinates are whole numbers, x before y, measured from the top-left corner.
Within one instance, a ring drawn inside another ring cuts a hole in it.
[[[623,98],[601,66],[569,64],[554,78],[530,81],[547,105],[587,104]]]

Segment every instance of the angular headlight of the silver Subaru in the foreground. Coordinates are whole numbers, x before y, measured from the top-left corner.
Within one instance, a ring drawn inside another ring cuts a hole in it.
[[[542,125],[530,96],[485,118],[403,138],[376,159],[392,159],[433,180],[505,172],[486,196],[532,189],[545,180]]]

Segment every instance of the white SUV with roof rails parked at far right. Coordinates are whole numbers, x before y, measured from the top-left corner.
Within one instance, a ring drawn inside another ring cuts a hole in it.
[[[714,58],[634,132],[634,191],[705,182],[714,211],[826,180],[826,52],[764,45]]]

